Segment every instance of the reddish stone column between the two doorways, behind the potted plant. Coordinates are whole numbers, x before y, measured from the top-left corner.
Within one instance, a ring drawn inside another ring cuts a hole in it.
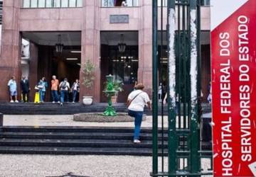
[[[100,102],[100,25],[99,1],[83,1],[82,21],[82,45],[81,45],[81,67],[89,59],[95,64],[95,81],[92,88],[80,87],[80,101],[82,96],[93,96],[95,102]],[[80,71],[80,81],[83,74]]]

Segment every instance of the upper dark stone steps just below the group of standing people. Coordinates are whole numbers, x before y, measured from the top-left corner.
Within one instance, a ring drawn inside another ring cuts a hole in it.
[[[117,113],[126,113],[127,105],[124,103],[113,104]],[[0,103],[0,113],[8,115],[73,115],[75,113],[102,113],[107,107],[107,103],[94,103],[92,105],[82,105],[82,103],[64,103],[63,106],[53,103]],[[210,112],[210,106],[206,103],[202,105],[203,113]],[[181,111],[182,112],[182,111]],[[146,115],[151,115],[151,110],[145,108]],[[164,115],[168,114],[167,105],[164,105]],[[159,104],[159,115],[161,115],[161,105]]]

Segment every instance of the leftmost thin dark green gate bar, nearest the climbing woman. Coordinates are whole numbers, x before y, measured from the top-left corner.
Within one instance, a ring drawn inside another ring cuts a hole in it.
[[[157,57],[157,0],[153,0],[153,174],[158,173],[158,57]]]

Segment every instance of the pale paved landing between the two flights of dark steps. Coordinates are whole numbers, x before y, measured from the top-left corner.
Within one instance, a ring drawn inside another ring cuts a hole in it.
[[[75,122],[73,115],[4,115],[5,126],[97,126],[97,127],[134,127],[134,122]],[[167,117],[164,117],[167,127]],[[159,117],[159,127],[161,117]],[[152,127],[152,117],[147,116],[142,127]]]

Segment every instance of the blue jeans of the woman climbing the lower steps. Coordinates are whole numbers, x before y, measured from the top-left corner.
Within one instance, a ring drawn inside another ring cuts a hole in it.
[[[134,117],[134,139],[139,139],[140,127],[142,125],[143,111],[128,110],[128,114]]]

